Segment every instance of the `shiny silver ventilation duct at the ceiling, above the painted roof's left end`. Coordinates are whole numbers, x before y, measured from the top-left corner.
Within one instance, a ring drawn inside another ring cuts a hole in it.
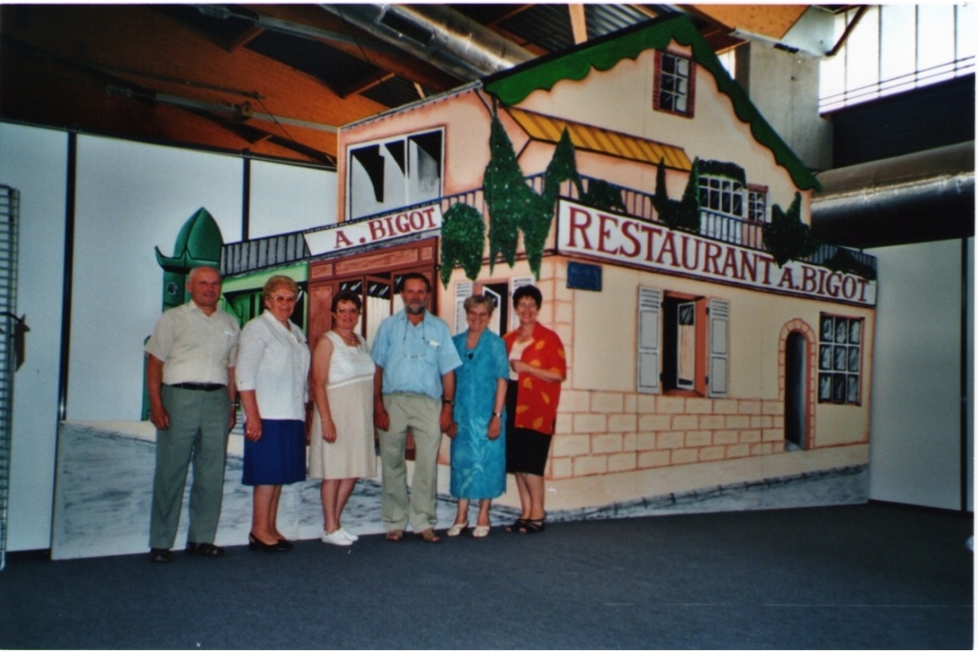
[[[444,5],[320,5],[344,21],[464,81],[536,57]]]

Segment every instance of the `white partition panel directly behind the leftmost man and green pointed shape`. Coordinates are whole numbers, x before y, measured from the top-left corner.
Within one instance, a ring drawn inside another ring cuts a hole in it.
[[[162,304],[155,247],[170,256],[206,208],[241,239],[240,158],[108,138],[78,139],[67,418],[138,420],[143,342]]]

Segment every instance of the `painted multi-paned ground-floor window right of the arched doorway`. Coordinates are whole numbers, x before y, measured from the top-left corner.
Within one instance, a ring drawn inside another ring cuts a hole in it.
[[[863,320],[822,314],[819,403],[860,405]]]

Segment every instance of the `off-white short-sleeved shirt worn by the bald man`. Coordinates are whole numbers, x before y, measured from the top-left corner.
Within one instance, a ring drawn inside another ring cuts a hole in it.
[[[145,350],[163,363],[163,383],[228,384],[238,356],[241,327],[223,310],[205,314],[193,301],[170,308],[156,320]]]

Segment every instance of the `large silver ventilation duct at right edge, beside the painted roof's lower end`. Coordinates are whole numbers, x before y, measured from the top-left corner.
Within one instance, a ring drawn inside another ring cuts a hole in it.
[[[812,235],[867,248],[974,236],[974,141],[827,170]]]

